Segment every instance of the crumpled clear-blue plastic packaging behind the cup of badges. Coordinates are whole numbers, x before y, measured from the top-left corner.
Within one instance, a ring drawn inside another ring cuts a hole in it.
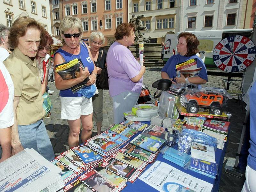
[[[196,131],[194,129],[183,129],[182,132],[190,134],[193,137],[194,142],[213,146],[214,151],[216,151],[217,139],[215,137],[211,137],[203,132]]]

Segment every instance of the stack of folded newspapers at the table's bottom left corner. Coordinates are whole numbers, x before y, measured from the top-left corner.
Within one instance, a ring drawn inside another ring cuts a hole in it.
[[[0,191],[55,192],[64,187],[61,169],[26,148],[0,163]]]

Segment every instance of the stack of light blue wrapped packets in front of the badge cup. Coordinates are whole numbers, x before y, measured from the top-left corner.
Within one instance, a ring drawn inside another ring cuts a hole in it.
[[[184,167],[191,158],[187,153],[180,152],[171,147],[166,147],[162,153],[164,153],[164,159],[167,159],[181,167]]]

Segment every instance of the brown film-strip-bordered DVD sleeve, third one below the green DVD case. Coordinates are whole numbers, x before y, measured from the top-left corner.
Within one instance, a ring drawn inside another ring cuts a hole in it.
[[[102,167],[105,167],[109,171],[119,175],[131,183],[133,183],[141,174],[141,172],[136,170],[135,167],[114,158],[106,159],[106,161],[102,163]]]

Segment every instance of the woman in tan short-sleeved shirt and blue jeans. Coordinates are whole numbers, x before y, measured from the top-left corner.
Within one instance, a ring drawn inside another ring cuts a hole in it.
[[[34,148],[51,161],[54,153],[42,120],[45,111],[41,81],[34,59],[40,41],[45,41],[44,31],[43,25],[33,18],[17,18],[8,36],[14,50],[3,63],[14,85],[12,154],[20,152],[23,148]]]

